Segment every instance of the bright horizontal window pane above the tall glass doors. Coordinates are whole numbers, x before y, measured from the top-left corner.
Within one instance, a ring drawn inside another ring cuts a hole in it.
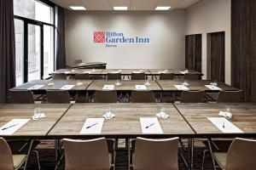
[[[53,8],[35,0],[14,0],[15,15],[53,23]]]

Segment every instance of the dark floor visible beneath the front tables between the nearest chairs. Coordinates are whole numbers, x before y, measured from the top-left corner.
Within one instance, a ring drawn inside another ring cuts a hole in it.
[[[229,143],[228,142],[218,142],[218,146],[220,146],[221,150],[227,150]],[[17,142],[10,143],[11,148],[15,149],[19,147],[19,144]],[[40,144],[36,147],[36,149],[39,151],[40,155],[40,163],[41,163],[41,169],[42,170],[53,170],[55,167],[55,150],[54,150],[54,141],[45,140],[41,141]],[[194,169],[200,170],[201,169],[201,159],[202,159],[202,152],[205,150],[205,145],[201,142],[201,140],[195,140],[195,158],[194,158]],[[180,149],[182,150],[182,149]],[[186,153],[185,153],[186,156]],[[127,169],[127,151],[125,150],[119,150],[117,152],[117,159],[116,159],[117,170],[126,170]],[[60,170],[64,170],[65,162],[62,161]],[[37,159],[34,153],[32,153],[32,156],[30,158],[29,164],[28,164],[28,170],[37,170],[38,164]],[[183,161],[179,158],[179,169],[183,170],[186,169],[183,165]],[[207,155],[206,162],[205,162],[205,169],[210,170],[212,168],[212,161],[210,159],[210,156]]]

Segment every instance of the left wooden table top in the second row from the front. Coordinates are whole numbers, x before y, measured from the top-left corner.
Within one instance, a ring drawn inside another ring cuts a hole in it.
[[[14,90],[24,90],[31,88],[34,85],[44,85],[44,87],[39,88],[39,89],[32,89],[32,91],[42,91],[42,90],[57,90],[62,88],[64,85],[75,85],[73,88],[71,88],[69,91],[82,91],[86,90],[86,88],[89,87],[90,83],[93,82],[93,80],[79,80],[80,82],[83,82],[81,85],[77,85],[78,80],[34,80],[31,82],[26,82],[24,84],[21,84],[20,86],[17,86],[15,88],[11,88]],[[49,86],[49,82],[53,82],[54,84]]]

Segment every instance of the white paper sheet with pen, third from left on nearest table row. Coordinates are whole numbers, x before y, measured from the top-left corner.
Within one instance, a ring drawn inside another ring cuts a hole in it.
[[[143,133],[163,133],[156,117],[140,117]]]

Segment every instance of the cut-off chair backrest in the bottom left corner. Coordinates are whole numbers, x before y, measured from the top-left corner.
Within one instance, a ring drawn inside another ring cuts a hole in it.
[[[9,144],[3,138],[0,138],[0,169],[15,169],[12,151],[9,149]]]

